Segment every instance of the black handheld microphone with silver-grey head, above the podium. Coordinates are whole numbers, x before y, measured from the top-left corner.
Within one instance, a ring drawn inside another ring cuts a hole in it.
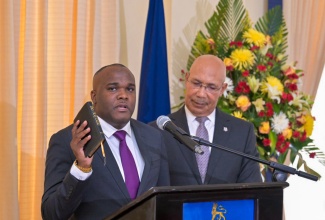
[[[188,147],[190,150],[194,151],[198,154],[203,154],[204,151],[202,151],[200,145],[193,141],[188,134],[182,130],[180,127],[177,127],[169,117],[161,115],[157,118],[157,125],[161,130],[166,130],[169,133],[171,133],[174,138],[176,138],[179,142],[184,144],[186,147]]]

